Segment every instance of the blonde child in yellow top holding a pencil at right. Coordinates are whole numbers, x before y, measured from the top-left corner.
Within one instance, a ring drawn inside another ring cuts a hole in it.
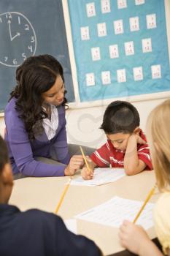
[[[154,208],[155,233],[163,247],[163,253],[170,255],[170,99],[158,105],[147,121],[147,138],[150,144],[155,176],[163,194]],[[150,241],[144,229],[127,220],[120,227],[120,243],[140,256],[161,256],[161,251]]]

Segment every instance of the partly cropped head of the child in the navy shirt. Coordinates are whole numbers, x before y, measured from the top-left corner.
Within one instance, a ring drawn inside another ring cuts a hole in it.
[[[0,136],[0,203],[7,203],[12,192],[13,178],[7,146]]]

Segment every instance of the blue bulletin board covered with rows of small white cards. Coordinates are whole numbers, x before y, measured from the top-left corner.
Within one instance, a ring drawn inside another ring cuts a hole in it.
[[[163,0],[68,0],[80,101],[170,91]]]

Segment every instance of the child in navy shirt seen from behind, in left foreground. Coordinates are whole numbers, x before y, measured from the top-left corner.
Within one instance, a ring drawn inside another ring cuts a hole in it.
[[[12,185],[7,146],[0,137],[0,255],[101,255],[93,241],[74,235],[55,214],[9,206]]]

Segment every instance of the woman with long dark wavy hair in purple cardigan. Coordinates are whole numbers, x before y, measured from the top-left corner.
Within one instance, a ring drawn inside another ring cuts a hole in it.
[[[66,140],[61,64],[49,55],[30,57],[18,67],[16,80],[4,112],[5,140],[15,178],[74,175],[83,159],[79,147],[68,146]],[[88,154],[87,150],[90,148],[85,149]]]

